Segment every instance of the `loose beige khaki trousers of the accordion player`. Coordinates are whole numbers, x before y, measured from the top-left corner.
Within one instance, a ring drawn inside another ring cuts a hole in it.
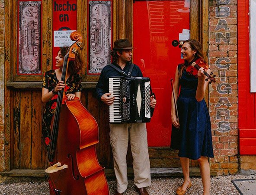
[[[109,124],[109,127],[117,192],[125,192],[128,186],[126,163],[128,140],[130,140],[133,158],[134,184],[138,188],[150,186],[146,123]]]

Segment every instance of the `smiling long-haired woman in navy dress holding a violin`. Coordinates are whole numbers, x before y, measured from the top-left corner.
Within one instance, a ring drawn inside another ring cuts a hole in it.
[[[202,176],[203,195],[210,195],[210,166],[208,157],[213,157],[211,121],[205,103],[205,89],[209,81],[205,74],[210,69],[201,67],[196,75],[187,72],[190,63],[197,58],[205,60],[200,43],[194,39],[184,41],[181,48],[183,64],[179,64],[175,73],[174,96],[172,96],[172,140],[171,148],[179,149],[179,159],[184,175],[182,186],[176,191],[177,195],[184,195],[191,187],[189,178],[189,159],[197,160]],[[179,93],[180,88],[180,93]],[[178,97],[179,94],[179,97]],[[178,97],[178,100],[177,100]],[[175,103],[177,100],[177,120]],[[179,137],[175,138],[176,135]],[[178,140],[178,141],[176,141]]]

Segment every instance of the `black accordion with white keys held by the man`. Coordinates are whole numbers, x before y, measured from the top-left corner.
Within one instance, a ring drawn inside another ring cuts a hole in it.
[[[109,123],[150,122],[150,79],[147,77],[109,78]]]

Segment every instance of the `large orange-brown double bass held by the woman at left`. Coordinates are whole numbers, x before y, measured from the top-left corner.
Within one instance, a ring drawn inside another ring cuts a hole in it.
[[[61,80],[66,81],[68,64],[82,48],[82,36],[70,34],[72,44],[64,57]],[[45,173],[51,195],[109,195],[104,168],[96,156],[99,128],[80,99],[67,101],[64,90],[58,92],[51,125],[51,143]]]

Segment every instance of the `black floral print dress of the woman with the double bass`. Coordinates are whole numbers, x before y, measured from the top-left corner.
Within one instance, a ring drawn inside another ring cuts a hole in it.
[[[56,73],[54,70],[49,70],[45,72],[43,79],[43,88],[48,89],[48,91],[53,90],[54,87],[58,84],[59,80],[57,79]],[[75,94],[76,92],[81,91],[81,78],[79,74],[71,74],[65,86],[65,94]],[[58,95],[54,95],[50,101],[45,105],[43,121],[42,121],[42,134],[45,138],[45,144],[48,147],[51,137],[51,119],[54,115],[56,104],[57,104]]]

